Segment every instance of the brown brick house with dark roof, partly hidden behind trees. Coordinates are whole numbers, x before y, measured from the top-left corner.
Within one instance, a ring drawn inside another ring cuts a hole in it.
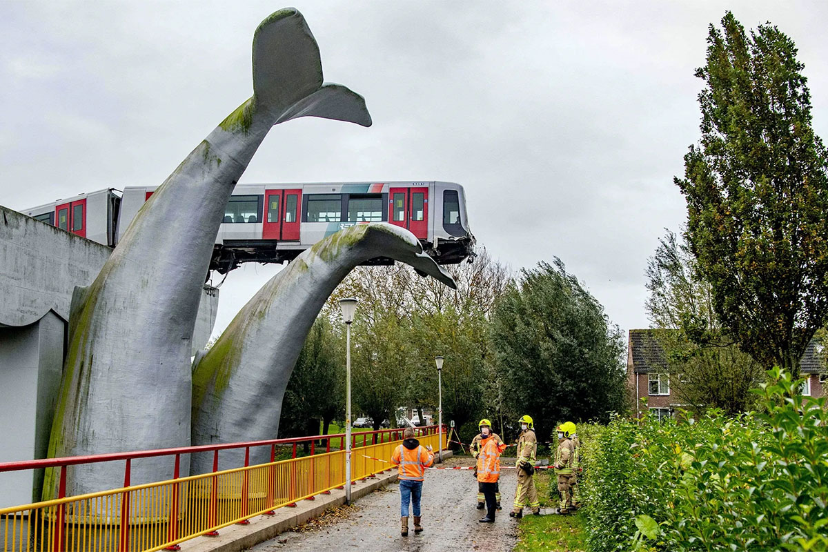
[[[824,396],[828,382],[826,372],[821,367],[819,353],[822,344],[811,340],[800,361],[802,377],[806,377],[802,394]],[[653,337],[652,329],[629,330],[627,346],[627,386],[635,404],[636,415],[641,417],[643,410],[655,410],[659,419],[672,415],[676,408],[684,406],[671,394],[670,376],[667,373],[667,358],[661,345]],[[638,398],[646,398],[643,406]]]

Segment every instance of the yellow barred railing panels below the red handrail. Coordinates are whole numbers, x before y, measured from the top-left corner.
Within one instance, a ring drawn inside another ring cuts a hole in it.
[[[438,448],[437,434],[419,440]],[[354,482],[392,468],[388,459],[401,443],[354,449]],[[315,454],[3,508],[0,543],[7,552],[162,550],[343,486],[344,455]]]

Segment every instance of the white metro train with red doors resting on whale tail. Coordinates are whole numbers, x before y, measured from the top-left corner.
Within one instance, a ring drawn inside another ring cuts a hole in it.
[[[108,188],[22,213],[115,247],[157,186]],[[341,228],[369,222],[407,228],[440,264],[474,257],[463,186],[451,182],[240,184],[224,209],[210,270],[285,262]],[[377,258],[366,264],[390,264]]]

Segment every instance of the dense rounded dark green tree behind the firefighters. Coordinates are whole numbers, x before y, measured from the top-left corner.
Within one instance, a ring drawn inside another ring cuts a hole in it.
[[[560,259],[524,269],[491,327],[508,409],[532,415],[541,434],[627,410],[621,332]]]

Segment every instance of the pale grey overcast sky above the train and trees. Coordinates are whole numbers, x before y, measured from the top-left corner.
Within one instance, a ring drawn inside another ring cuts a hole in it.
[[[242,183],[458,182],[479,244],[513,269],[561,257],[624,330],[647,327],[647,257],[685,220],[672,179],[711,22],[731,9],[792,36],[828,138],[828,2],[295,6],[373,127],[274,127]],[[0,0],[0,204],[161,184],[252,94],[253,31],[280,7]],[[277,269],[229,274],[217,331]]]

